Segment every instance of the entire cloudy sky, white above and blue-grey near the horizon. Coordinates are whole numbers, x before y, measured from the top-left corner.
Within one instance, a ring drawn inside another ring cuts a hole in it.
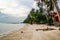
[[[31,8],[37,8],[34,0],[0,0],[0,22],[24,21]]]

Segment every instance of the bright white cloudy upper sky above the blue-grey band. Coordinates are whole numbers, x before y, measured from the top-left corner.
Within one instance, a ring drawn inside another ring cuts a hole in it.
[[[0,12],[14,17],[25,17],[31,8],[35,8],[34,0],[0,0]]]

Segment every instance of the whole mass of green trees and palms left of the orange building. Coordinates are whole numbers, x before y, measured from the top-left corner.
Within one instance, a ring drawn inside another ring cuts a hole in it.
[[[54,5],[52,3],[52,0],[41,0],[41,2],[37,3],[39,10],[35,11],[34,9],[32,9],[26,20],[24,20],[25,23],[52,23],[51,17],[48,17],[47,15],[43,15],[44,13],[43,3],[47,5],[47,13],[51,10],[54,10]]]

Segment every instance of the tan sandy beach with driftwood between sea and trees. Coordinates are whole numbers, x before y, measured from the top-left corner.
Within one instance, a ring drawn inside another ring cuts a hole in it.
[[[59,27],[45,24],[26,24],[23,28],[1,37],[0,40],[60,40],[60,30]]]

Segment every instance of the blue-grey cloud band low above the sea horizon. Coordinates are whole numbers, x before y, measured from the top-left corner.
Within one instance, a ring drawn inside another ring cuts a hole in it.
[[[25,18],[26,17],[12,17],[0,12],[0,23],[20,23],[23,22]]]

